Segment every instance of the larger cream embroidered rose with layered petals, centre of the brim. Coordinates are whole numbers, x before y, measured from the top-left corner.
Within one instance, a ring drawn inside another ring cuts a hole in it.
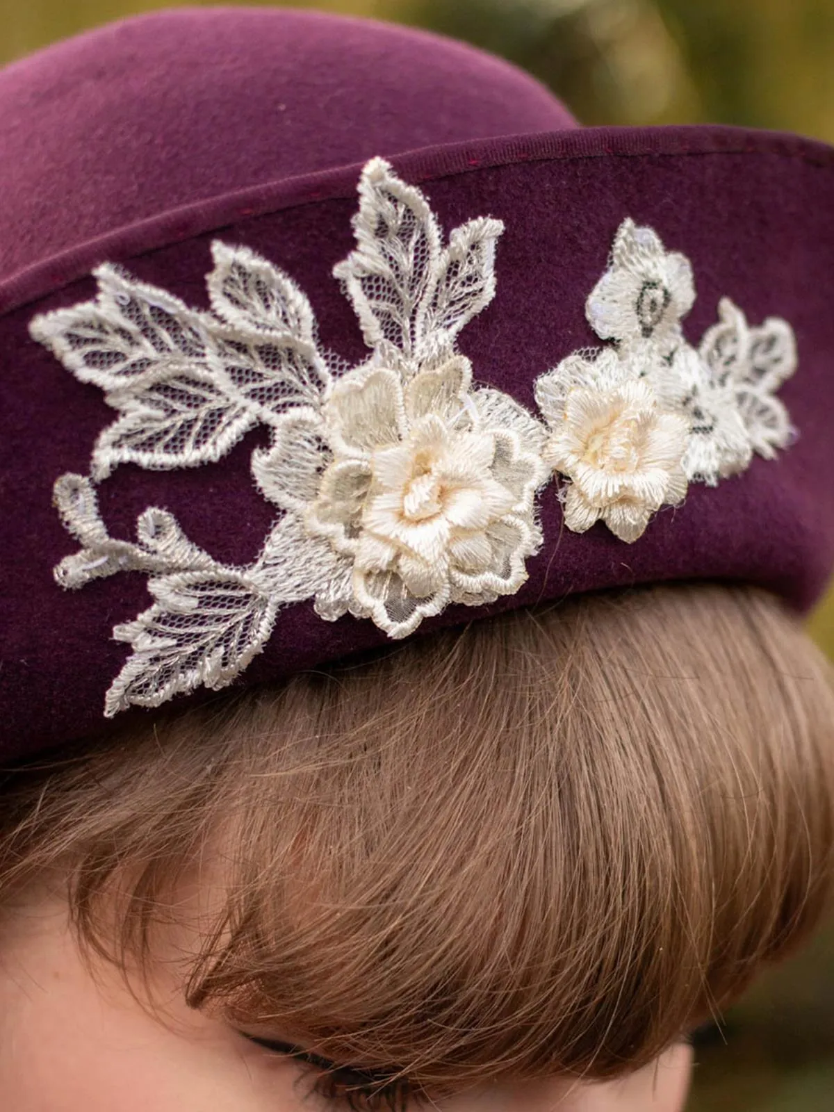
[[[517,590],[540,543],[544,433],[497,391],[473,391],[470,375],[460,356],[405,384],[369,367],[325,406],[332,460],[304,519],[350,558],[355,598],[378,624],[394,602],[394,635],[449,602]]]

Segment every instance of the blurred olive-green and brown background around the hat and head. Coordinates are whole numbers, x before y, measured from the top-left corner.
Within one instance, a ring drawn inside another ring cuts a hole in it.
[[[172,4],[0,0],[0,63],[83,28],[166,7]],[[530,70],[584,123],[726,122],[834,142],[834,0],[296,0],[294,7],[467,39]],[[811,629],[834,656],[834,590]],[[834,929],[763,977],[722,1031],[707,1034],[689,1109],[834,1110]]]

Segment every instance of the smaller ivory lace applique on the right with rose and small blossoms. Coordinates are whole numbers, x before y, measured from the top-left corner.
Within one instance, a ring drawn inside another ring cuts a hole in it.
[[[545,458],[568,480],[559,489],[568,528],[602,518],[634,542],[688,483],[715,486],[754,451],[773,459],[795,437],[774,397],[796,367],[791,326],[771,318],[751,328],[724,298],[695,350],[681,327],[694,300],[688,259],[625,220],[586,305],[613,347],[568,356],[536,383],[550,429]]]

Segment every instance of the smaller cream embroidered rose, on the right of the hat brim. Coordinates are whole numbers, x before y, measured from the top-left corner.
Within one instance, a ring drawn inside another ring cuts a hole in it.
[[[536,397],[550,427],[545,459],[570,479],[569,529],[602,519],[631,543],[662,505],[682,502],[688,423],[661,410],[649,384],[614,351],[568,357],[538,380]]]

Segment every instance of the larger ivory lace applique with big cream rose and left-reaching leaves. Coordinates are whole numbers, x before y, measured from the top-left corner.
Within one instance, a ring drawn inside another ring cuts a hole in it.
[[[210,314],[106,265],[95,301],[32,321],[33,338],[119,414],[93,448],[91,477],[56,484],[81,545],[56,578],[80,587],[145,572],[155,598],[113,631],[132,655],[107,716],[225,686],[287,603],[312,598],[322,618],[370,617],[404,637],[450,603],[518,590],[542,544],[534,497],[548,475],[545,429],[507,395],[475,387],[456,350],[458,332],[494,297],[503,227],[471,220],[444,247],[423,195],[381,159],[369,162],[357,248],[334,272],[371,355],[341,373],[295,282],[221,242],[212,245]],[[252,476],[284,513],[251,566],[219,564],[162,509],[139,517],[136,543],[108,535],[95,481],[123,463],[219,460],[256,425],[270,428],[271,443],[252,453]]]

